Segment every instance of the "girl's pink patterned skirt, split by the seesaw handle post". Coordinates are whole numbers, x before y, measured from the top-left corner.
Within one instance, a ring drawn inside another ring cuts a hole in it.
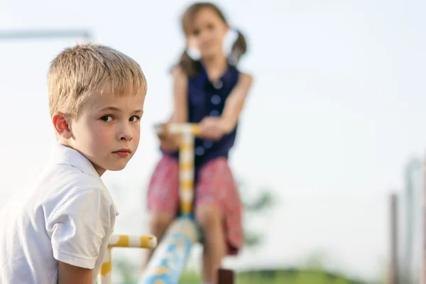
[[[179,211],[178,160],[163,155],[148,188],[148,208],[177,216]],[[195,183],[195,208],[214,203],[224,218],[227,254],[236,255],[243,245],[241,202],[226,158],[216,158],[200,168]]]

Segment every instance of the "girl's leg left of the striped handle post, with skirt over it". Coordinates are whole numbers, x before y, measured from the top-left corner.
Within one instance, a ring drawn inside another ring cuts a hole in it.
[[[148,187],[148,208],[151,212],[149,234],[153,234],[158,240],[178,212],[178,177],[178,160],[163,155],[153,172]],[[144,253],[143,269],[146,268],[153,251],[148,249]]]

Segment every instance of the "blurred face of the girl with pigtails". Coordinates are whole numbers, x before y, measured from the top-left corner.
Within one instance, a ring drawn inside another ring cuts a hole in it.
[[[213,9],[202,8],[193,18],[188,45],[200,50],[203,59],[223,55],[226,31],[228,26]]]

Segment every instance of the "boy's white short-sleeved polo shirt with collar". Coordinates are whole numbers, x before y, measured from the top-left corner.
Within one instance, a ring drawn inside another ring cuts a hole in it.
[[[58,283],[58,261],[93,269],[107,251],[116,207],[92,163],[56,145],[48,165],[0,212],[0,283]]]

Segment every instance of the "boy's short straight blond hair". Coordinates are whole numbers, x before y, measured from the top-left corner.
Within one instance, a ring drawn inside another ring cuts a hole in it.
[[[111,89],[105,90],[106,87]],[[113,48],[92,43],[62,51],[48,72],[50,116],[56,111],[77,119],[92,92],[111,91],[116,96],[146,93],[146,77],[129,56]]]

